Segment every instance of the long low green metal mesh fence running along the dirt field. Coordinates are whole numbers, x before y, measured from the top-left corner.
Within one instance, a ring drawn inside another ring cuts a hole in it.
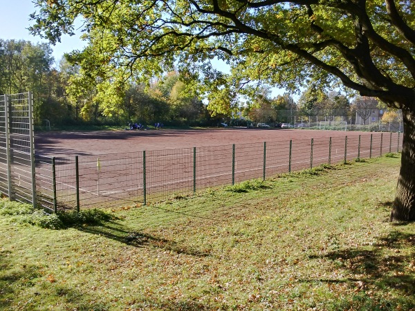
[[[100,156],[36,157],[37,196],[52,211],[126,207],[401,150],[400,133],[230,144]]]

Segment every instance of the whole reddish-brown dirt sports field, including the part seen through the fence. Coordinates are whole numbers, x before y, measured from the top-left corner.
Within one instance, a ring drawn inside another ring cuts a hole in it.
[[[356,131],[163,129],[39,133],[35,149],[37,155],[55,157],[58,205],[72,209],[154,202],[322,163],[380,156],[397,151],[399,140],[398,133]],[[50,169],[37,175],[46,176],[46,182]]]

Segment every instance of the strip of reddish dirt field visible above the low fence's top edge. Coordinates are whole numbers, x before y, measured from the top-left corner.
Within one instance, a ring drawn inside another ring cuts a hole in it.
[[[35,134],[36,153],[42,156],[93,156],[191,147],[250,144],[311,138],[356,137],[362,132],[301,129],[198,129],[96,132],[43,132]],[[367,134],[367,133],[366,133]]]

